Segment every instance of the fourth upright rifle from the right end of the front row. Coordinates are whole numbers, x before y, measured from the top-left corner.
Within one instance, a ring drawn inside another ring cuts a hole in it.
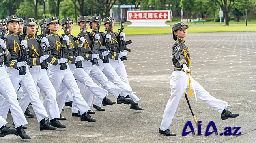
[[[85,27],[86,27],[86,22],[85,22],[85,25],[82,27],[82,33],[78,34],[79,43],[78,43],[78,49],[77,49],[77,56],[84,56],[84,48],[82,45],[82,41],[80,41],[80,38],[85,35]],[[82,62],[83,61],[78,61],[77,63],[75,63],[76,68],[83,68]]]

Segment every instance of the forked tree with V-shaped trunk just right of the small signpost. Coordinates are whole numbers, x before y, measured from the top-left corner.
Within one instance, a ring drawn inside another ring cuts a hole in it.
[[[235,0],[215,0],[217,4],[220,5],[221,9],[223,10],[223,14],[225,16],[225,25],[228,26],[228,13],[230,12],[230,9],[235,4]]]

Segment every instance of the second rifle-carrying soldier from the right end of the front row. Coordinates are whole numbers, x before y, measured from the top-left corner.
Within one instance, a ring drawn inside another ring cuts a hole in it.
[[[90,18],[90,28],[92,29],[92,33],[94,34],[95,31],[97,30],[97,22],[99,21],[99,16],[93,16]],[[99,39],[99,44],[101,46],[103,46],[103,43],[105,42],[105,39],[107,38],[107,40],[110,42],[111,41],[111,35],[107,34],[105,35],[105,33],[100,33],[100,39]],[[103,56],[108,56],[110,51],[106,51],[108,52],[107,54],[104,54],[104,52],[102,52]],[[131,95],[131,93],[133,92],[131,90],[130,85],[124,83],[121,81],[121,78],[118,76],[118,74],[116,73],[116,71],[113,69],[113,67],[110,65],[110,63],[103,63],[103,61],[101,59],[99,59],[99,69],[105,74],[105,76],[107,76],[108,80],[113,82],[115,85],[117,85],[118,87],[120,87],[122,89],[121,94],[123,95]],[[93,94],[92,92],[90,92],[88,89],[85,90],[85,95],[87,100],[86,101],[90,101],[90,103],[92,102],[92,98],[93,98]],[[108,105],[105,102],[108,101],[109,99],[107,97],[105,97],[105,100],[103,100],[103,106]],[[94,100],[94,102],[97,102],[97,98]],[[125,104],[131,104],[131,109],[135,109],[135,110],[143,110],[142,108],[138,107],[138,103],[132,101],[129,102],[125,102]]]

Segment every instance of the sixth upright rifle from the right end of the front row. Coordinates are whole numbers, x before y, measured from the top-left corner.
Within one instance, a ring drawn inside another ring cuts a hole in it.
[[[47,19],[47,18],[46,18],[46,19]],[[46,37],[46,36],[45,36],[45,35],[46,35],[46,34],[45,34],[46,31],[47,31],[47,24],[43,24],[42,38],[43,38],[43,37]],[[51,50],[53,50],[53,49],[55,49],[55,46],[54,46],[54,45],[52,45],[52,46],[50,46],[50,47],[46,47],[45,42],[43,42],[43,43],[40,45],[40,51],[39,51],[40,57],[46,55],[48,51],[51,51]],[[47,64],[47,59],[46,59],[46,60],[44,60],[44,61],[41,63],[41,69],[47,69],[47,67],[48,67],[48,64]]]

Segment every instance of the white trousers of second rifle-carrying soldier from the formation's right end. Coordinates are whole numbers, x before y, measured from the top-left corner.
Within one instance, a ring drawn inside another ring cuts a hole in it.
[[[120,76],[118,76],[118,74],[113,69],[113,67],[110,65],[110,63],[103,63],[102,60],[99,59],[99,66],[98,67],[103,72],[103,74],[105,74],[105,76],[108,78],[108,81],[113,82],[116,86],[118,86],[122,89],[121,94],[123,96],[131,95],[131,93],[133,91],[132,91],[130,85],[121,81]],[[95,83],[97,83],[96,80],[94,80],[94,81],[95,81]],[[92,104],[93,93],[90,90],[86,89],[85,90],[85,95],[86,96],[84,96],[84,99],[86,100],[87,103],[90,102],[90,104],[88,103],[88,105],[91,105]],[[93,104],[98,103],[99,101],[97,101],[97,100],[98,99],[95,98]]]

